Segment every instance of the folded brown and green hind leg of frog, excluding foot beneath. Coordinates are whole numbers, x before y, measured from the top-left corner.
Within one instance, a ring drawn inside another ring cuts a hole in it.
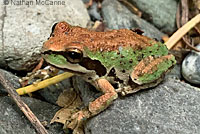
[[[131,73],[131,79],[138,85],[151,83],[159,79],[176,63],[173,55],[161,57],[148,56],[141,60]]]

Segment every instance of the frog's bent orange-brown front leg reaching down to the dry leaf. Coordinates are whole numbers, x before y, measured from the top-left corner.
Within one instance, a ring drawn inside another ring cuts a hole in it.
[[[114,87],[106,79],[98,79],[96,81],[96,86],[104,94],[95,99],[93,102],[90,102],[87,109],[81,110],[72,115],[71,121],[66,124],[67,128],[74,129],[74,134],[80,130],[80,127],[82,127],[85,119],[100,113],[118,97]]]

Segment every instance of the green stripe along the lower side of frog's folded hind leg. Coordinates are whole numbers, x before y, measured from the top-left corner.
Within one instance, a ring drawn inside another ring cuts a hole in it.
[[[171,66],[176,64],[175,57],[173,56],[171,60],[165,60],[164,62],[158,64],[157,70],[155,70],[152,74],[144,74],[139,77],[139,81],[141,83],[149,83],[152,80],[156,80],[160,78],[160,76],[167,71]]]

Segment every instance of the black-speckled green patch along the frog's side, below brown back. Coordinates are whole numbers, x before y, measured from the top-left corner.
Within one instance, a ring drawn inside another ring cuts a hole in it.
[[[120,70],[130,70],[145,57],[167,55],[168,49],[164,44],[157,43],[142,50],[127,47],[119,48],[117,51],[93,52],[85,48],[85,52],[89,58],[99,60],[106,68],[116,67]]]

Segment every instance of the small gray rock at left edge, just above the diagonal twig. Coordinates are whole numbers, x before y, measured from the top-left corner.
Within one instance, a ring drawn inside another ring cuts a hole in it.
[[[15,76],[14,74],[5,71],[3,69],[0,69],[0,72],[3,73],[6,80],[9,80],[9,82],[13,85],[15,89],[20,88],[21,85],[19,83],[19,78]],[[0,84],[0,94],[7,93],[7,90]]]

